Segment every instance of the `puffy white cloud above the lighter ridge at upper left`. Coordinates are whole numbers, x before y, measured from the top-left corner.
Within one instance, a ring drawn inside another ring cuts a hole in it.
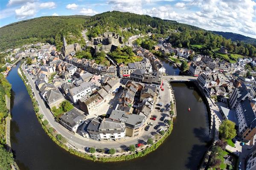
[[[28,17],[33,17],[36,14],[36,5],[35,3],[26,3],[26,5],[21,6],[15,10],[16,18],[18,20],[25,19]]]

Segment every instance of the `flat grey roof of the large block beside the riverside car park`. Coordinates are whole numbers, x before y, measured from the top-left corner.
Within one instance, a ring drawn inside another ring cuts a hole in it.
[[[128,127],[134,127],[136,125],[140,125],[144,121],[145,116],[137,114],[126,114],[124,111],[113,110],[109,119],[124,122]]]

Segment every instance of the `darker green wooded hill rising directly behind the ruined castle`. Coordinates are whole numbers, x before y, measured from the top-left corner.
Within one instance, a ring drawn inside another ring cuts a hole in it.
[[[193,30],[201,29],[195,26],[180,24],[176,21],[162,20],[148,15],[139,15],[120,11],[108,11],[102,14],[96,14],[86,21],[85,26],[89,27],[89,37],[96,37],[98,34],[103,34],[106,31],[113,31],[119,33],[125,38],[132,34],[145,34],[148,32],[167,35],[169,31],[175,30],[179,27]],[[90,26],[93,27],[90,28]],[[123,28],[130,29],[123,30]]]

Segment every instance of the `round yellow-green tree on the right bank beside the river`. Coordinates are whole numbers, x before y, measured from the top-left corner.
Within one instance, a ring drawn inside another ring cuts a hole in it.
[[[220,138],[225,140],[233,139],[236,136],[235,125],[230,120],[224,120],[219,127]]]

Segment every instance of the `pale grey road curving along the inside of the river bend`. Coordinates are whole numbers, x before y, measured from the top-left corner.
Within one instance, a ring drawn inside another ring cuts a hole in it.
[[[38,101],[40,113],[44,114],[44,119],[47,119],[49,122],[49,125],[51,125],[58,133],[60,133],[62,136],[64,136],[64,138],[67,139],[67,142],[69,142],[71,145],[73,145],[80,151],[84,151],[84,147],[115,148],[115,149],[122,148],[123,149],[124,147],[128,147],[131,144],[145,143],[145,141],[147,141],[148,138],[151,138],[156,133],[153,128],[151,128],[151,130],[149,130],[149,131],[145,131],[143,129],[143,132],[141,132],[140,136],[138,136],[138,137],[122,139],[119,141],[107,141],[107,142],[95,141],[92,139],[84,138],[77,133],[74,134],[74,133],[70,132],[69,130],[67,130],[65,127],[63,127],[61,124],[59,124],[58,122],[55,121],[55,118],[52,115],[51,111],[49,110],[49,108],[46,107],[44,100],[41,98],[39,91],[36,90],[36,86],[35,86],[34,80],[32,80],[32,76],[29,76],[29,74],[26,73],[24,65],[22,65],[22,69],[23,69],[27,79],[29,80],[30,85],[32,86],[32,91],[34,91],[34,93],[35,93],[35,98]],[[168,85],[168,83],[165,84],[166,89],[168,89],[167,85]],[[167,98],[167,96],[169,95],[168,92],[169,91],[161,91],[160,92],[160,95],[162,95],[162,97],[163,97],[162,99],[169,100],[169,98]],[[168,101],[166,100],[164,102],[168,102]],[[160,113],[158,113],[154,110],[152,111],[151,114],[159,114],[160,115]],[[148,119],[149,119],[149,117],[148,117]],[[158,121],[155,121],[154,123],[163,125],[163,122],[160,122],[159,118],[158,118]]]

